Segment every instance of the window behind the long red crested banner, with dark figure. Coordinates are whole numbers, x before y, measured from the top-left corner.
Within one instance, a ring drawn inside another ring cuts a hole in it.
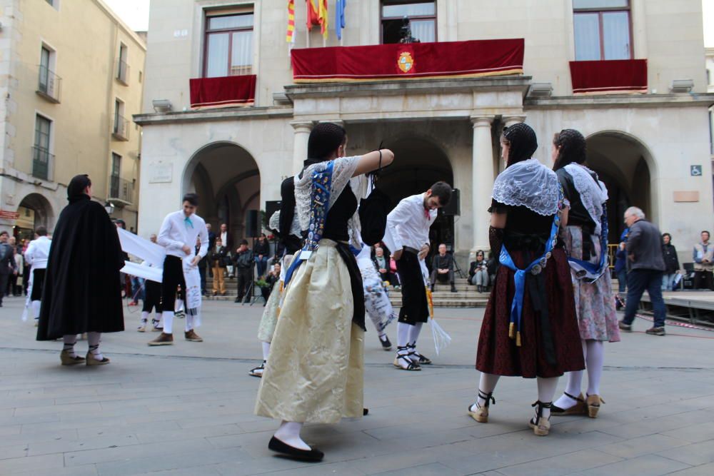
[[[382,0],[382,43],[436,41],[436,1]]]

